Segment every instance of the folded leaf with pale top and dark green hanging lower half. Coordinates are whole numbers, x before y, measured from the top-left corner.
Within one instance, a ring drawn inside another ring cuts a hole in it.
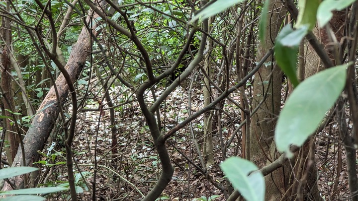
[[[303,25],[299,29],[293,30],[290,24],[287,24],[278,33],[275,41],[274,56],[277,65],[287,75],[295,87],[299,83],[296,74],[297,50],[307,31],[308,25]]]

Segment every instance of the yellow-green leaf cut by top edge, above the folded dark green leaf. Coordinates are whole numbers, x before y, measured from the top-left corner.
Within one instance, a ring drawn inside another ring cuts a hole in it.
[[[298,1],[298,17],[296,28],[308,24],[308,29],[311,31],[316,24],[317,9],[321,0],[299,0]]]

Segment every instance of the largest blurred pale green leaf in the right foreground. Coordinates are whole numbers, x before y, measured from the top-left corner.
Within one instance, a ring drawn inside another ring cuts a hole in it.
[[[315,132],[346,84],[346,67],[328,68],[308,77],[288,97],[278,117],[274,140],[277,150],[292,157],[291,144],[301,146]]]

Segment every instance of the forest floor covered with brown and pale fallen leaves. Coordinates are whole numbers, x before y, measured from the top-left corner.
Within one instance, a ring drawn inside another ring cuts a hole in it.
[[[195,87],[199,88],[199,87]],[[116,94],[116,101],[122,101],[130,97],[130,93],[120,93],[122,88],[112,89],[112,95]],[[157,89],[160,95],[163,89]],[[174,128],[189,114],[202,108],[202,91],[190,90],[191,104],[188,104],[187,88],[178,87],[177,90],[166,99],[161,107],[163,132]],[[284,90],[283,90],[284,93]],[[153,96],[148,102],[153,102]],[[239,94],[231,94],[231,98],[239,101]],[[112,136],[109,119],[109,111],[86,111],[78,114],[76,138],[73,144],[76,162],[75,176],[80,200],[90,201],[93,185],[96,187],[96,199],[101,201],[137,201],[148,194],[156,183],[161,173],[161,164],[154,148],[153,140],[146,126],[139,105],[129,98],[129,103],[118,107],[116,110],[116,140],[117,149],[111,149]],[[238,117],[240,111],[233,104],[225,103],[225,115],[222,118],[223,138],[229,140],[235,129],[240,125]],[[87,110],[98,110],[97,101],[87,101]],[[196,151],[195,142],[201,146],[203,118],[197,118],[189,126],[177,132],[168,140],[167,147],[175,168],[172,181],[158,200],[166,201],[224,201],[223,194],[208,181],[200,169],[199,154]],[[238,135],[241,136],[241,135]],[[323,132],[316,134],[315,152],[316,165],[318,168],[318,188],[321,196],[326,200],[347,200],[348,177],[345,162],[345,150],[338,143],[337,125],[331,123]],[[51,139],[50,139],[51,140]],[[48,141],[51,144],[52,141]],[[215,164],[208,168],[213,181],[226,185],[224,175],[219,164],[222,162],[220,151],[220,139],[214,136],[215,141]],[[241,153],[240,140],[233,142],[227,150],[227,156]],[[55,152],[58,156],[56,161],[64,161],[61,149]],[[61,156],[61,157],[59,157]],[[188,162],[190,160],[190,162]],[[95,168],[96,166],[96,168]],[[197,166],[197,167],[195,167]],[[338,168],[340,167],[340,168]],[[66,166],[47,167],[53,173],[48,181],[61,182],[66,177]],[[79,174],[79,170],[82,173]],[[96,170],[96,171],[94,171]],[[339,173],[337,174],[337,172]],[[93,173],[96,172],[95,181]],[[338,176],[337,176],[338,175]],[[46,176],[46,175],[45,175]],[[85,178],[85,181],[83,180]],[[48,182],[49,183],[49,182]],[[53,195],[53,200],[66,200],[68,192]],[[52,200],[52,199],[51,199]]]

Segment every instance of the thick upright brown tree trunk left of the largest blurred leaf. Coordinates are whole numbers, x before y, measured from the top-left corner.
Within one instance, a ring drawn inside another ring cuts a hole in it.
[[[260,61],[269,51],[269,48],[273,46],[273,41],[286,14],[279,0],[270,0],[269,11],[265,41],[259,44],[256,61]],[[261,67],[255,73],[252,108],[258,107],[259,103],[266,97],[260,109],[253,115],[250,126],[251,160],[259,168],[265,166],[269,160],[272,161],[277,158],[272,139],[281,106],[281,84],[282,72],[274,65],[273,58],[268,60],[264,67]],[[285,192],[288,177],[285,177],[282,171],[283,169],[280,168],[265,178],[266,201],[279,200],[281,192]],[[289,173],[289,171],[284,170],[284,173]]]

